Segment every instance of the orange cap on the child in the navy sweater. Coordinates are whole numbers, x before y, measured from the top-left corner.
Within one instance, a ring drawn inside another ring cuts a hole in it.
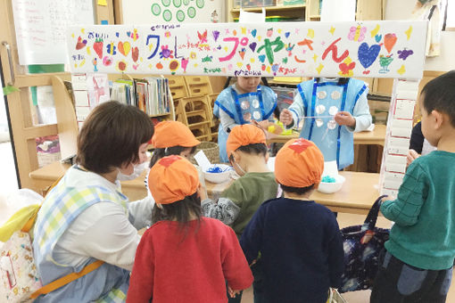
[[[275,178],[290,187],[318,186],[324,170],[324,156],[314,143],[299,138],[289,140],[277,153]]]

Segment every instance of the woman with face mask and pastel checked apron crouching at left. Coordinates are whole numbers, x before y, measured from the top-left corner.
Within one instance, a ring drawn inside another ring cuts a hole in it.
[[[140,241],[151,224],[149,198],[128,202],[119,180],[147,165],[153,136],[149,117],[134,106],[105,102],[87,117],[78,136],[77,164],[47,194],[37,215],[33,250],[43,285],[104,264],[35,302],[122,302]]]

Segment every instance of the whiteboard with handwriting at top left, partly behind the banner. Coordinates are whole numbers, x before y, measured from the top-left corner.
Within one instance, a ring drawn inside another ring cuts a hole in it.
[[[21,65],[68,61],[66,28],[95,24],[93,0],[12,0]]]

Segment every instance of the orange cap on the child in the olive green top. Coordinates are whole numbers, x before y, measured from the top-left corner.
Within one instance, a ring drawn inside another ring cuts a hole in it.
[[[266,136],[260,127],[252,124],[244,124],[233,127],[226,142],[227,156],[230,156],[232,151],[244,145],[266,143]]]

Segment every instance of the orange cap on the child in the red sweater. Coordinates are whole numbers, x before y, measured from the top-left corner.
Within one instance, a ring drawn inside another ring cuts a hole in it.
[[[196,168],[180,156],[161,158],[148,174],[148,188],[159,204],[183,200],[196,192],[198,187]]]

